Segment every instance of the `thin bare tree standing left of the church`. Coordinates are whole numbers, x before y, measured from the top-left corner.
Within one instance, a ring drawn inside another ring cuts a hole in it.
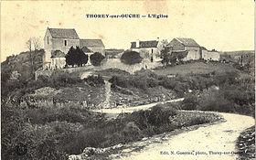
[[[29,61],[30,61],[30,68],[31,68],[31,75],[34,77],[35,69],[36,69],[36,56],[37,51],[40,48],[40,42],[38,37],[30,37],[27,42],[26,46],[29,51]]]

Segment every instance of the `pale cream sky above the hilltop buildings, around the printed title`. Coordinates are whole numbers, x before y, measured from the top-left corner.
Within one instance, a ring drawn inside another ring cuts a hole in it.
[[[86,14],[162,14],[168,18],[86,18]],[[254,49],[252,0],[2,1],[1,61],[26,51],[29,37],[47,27],[75,28],[80,38],[101,38],[105,48],[131,41],[194,38],[219,51]]]

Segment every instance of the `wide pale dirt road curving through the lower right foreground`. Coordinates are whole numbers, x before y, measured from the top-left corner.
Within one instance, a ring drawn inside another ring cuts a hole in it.
[[[235,160],[235,143],[240,132],[254,125],[249,116],[219,113],[225,123],[200,127],[177,134],[161,144],[149,144],[142,151],[131,152],[118,159],[125,160]],[[199,153],[198,153],[199,152]],[[128,155],[128,156],[126,156]]]

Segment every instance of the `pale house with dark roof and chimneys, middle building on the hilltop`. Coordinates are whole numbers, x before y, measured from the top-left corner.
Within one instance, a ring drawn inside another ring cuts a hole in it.
[[[158,39],[146,41],[137,39],[135,42],[131,42],[130,49],[140,53],[143,59],[150,59],[151,62],[160,60],[160,43]]]

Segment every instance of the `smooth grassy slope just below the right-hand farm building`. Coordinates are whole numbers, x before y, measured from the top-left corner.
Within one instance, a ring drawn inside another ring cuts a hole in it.
[[[220,62],[191,62],[187,64],[180,64],[174,67],[167,67],[165,69],[155,69],[155,74],[158,75],[187,75],[193,74],[206,74],[215,71],[216,73],[221,72],[232,72],[238,71],[234,69],[231,63],[220,63]]]

